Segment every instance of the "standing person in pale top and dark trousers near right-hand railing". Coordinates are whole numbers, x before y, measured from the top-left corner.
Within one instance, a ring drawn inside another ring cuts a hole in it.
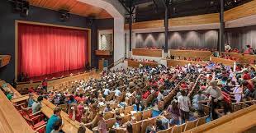
[[[211,117],[213,120],[216,120],[218,118],[218,114],[216,114],[214,110],[218,107],[220,101],[223,99],[223,95],[220,88],[217,86],[216,80],[211,80],[209,85],[210,86],[206,89],[204,94],[211,95]]]

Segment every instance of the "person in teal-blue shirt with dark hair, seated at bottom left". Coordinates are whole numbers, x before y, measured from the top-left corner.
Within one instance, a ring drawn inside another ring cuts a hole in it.
[[[47,122],[46,133],[50,133],[51,131],[54,130],[55,122],[57,122],[57,121],[59,121],[59,119],[61,119],[60,112],[61,112],[61,108],[57,107],[54,109],[54,114],[50,117],[50,119]],[[64,124],[62,123],[62,126],[63,125]],[[61,128],[62,128],[62,126],[61,126]]]

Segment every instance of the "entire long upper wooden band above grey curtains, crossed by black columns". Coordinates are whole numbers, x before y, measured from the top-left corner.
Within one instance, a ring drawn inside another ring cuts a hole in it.
[[[232,8],[225,11],[225,21],[233,21],[245,16],[256,15],[256,0],[245,3],[239,7]],[[211,13],[199,16],[185,16],[172,18],[168,20],[169,25],[172,26],[184,26],[184,25],[203,25],[220,23],[219,13]],[[149,29],[149,28],[164,28],[164,20],[158,21],[143,21],[137,22],[132,25],[132,29]],[[129,25],[125,25],[125,29],[129,30]]]

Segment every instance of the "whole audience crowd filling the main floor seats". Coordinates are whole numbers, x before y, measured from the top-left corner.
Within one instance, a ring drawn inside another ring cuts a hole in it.
[[[165,106],[166,109],[154,126],[148,126],[146,130],[157,132],[205,116],[203,105],[211,107],[210,118],[215,120],[232,112],[230,103],[255,100],[255,76],[254,68],[247,65],[238,65],[233,71],[230,66],[212,62],[171,68],[144,66],[103,71],[99,79],[74,80],[63,92],[47,92],[47,83],[44,82],[39,89],[29,89],[27,106],[32,112],[38,112],[43,98],[58,106],[47,122],[46,133],[61,132],[64,123],[61,122],[60,111],[64,108],[59,107],[62,105],[66,105],[64,112],[69,114],[70,119],[84,123],[82,131],[97,117],[99,132],[114,132],[115,129],[124,128],[130,133],[135,121],[132,119],[121,123],[121,114],[115,112],[117,108],[134,105],[137,112],[155,108],[159,102],[164,101],[165,96],[175,90],[176,95],[170,104]],[[40,95],[37,100],[33,99],[33,93]],[[111,93],[114,98],[125,94],[125,99],[107,99]],[[154,99],[145,105],[144,101],[150,94],[154,94]],[[134,100],[129,103],[125,102],[126,99]],[[111,108],[112,103],[119,104],[116,108]],[[103,110],[100,109],[102,107]],[[107,129],[107,121],[103,117],[106,112],[115,112],[116,123],[111,129]],[[93,127],[89,128],[92,130]]]

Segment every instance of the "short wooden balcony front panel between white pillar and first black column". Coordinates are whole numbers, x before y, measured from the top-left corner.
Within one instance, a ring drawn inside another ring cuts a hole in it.
[[[133,48],[132,55],[145,57],[162,57],[162,49]]]

